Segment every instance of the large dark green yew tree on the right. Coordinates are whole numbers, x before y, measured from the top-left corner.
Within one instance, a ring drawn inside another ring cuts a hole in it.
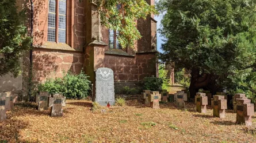
[[[255,71],[256,11],[252,0],[160,0],[163,62],[190,71],[190,97],[234,90]],[[254,74],[255,75],[255,74]]]

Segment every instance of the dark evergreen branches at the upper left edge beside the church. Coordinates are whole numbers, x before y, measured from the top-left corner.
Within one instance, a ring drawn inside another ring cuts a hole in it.
[[[0,1],[0,76],[21,73],[20,57],[29,50],[32,39],[24,26],[25,10],[18,13],[16,0]]]

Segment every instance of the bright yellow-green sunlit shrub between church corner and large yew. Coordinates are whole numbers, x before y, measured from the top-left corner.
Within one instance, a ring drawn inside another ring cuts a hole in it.
[[[167,77],[168,70],[165,69],[165,65],[159,64],[158,65],[159,71],[159,78],[162,78],[163,84],[162,89],[169,89],[170,88],[170,77]]]

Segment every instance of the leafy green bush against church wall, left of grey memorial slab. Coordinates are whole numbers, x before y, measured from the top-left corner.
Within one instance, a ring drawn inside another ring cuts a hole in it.
[[[38,86],[39,91],[49,93],[63,93],[67,98],[85,98],[89,95],[91,82],[87,80],[88,76],[82,71],[78,75],[70,72],[63,78],[47,79],[44,84]]]

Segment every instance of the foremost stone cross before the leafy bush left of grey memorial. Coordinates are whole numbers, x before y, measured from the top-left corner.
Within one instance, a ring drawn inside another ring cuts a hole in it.
[[[51,116],[63,116],[63,110],[62,110],[62,94],[52,94],[52,98],[54,99],[54,104],[51,107]]]

